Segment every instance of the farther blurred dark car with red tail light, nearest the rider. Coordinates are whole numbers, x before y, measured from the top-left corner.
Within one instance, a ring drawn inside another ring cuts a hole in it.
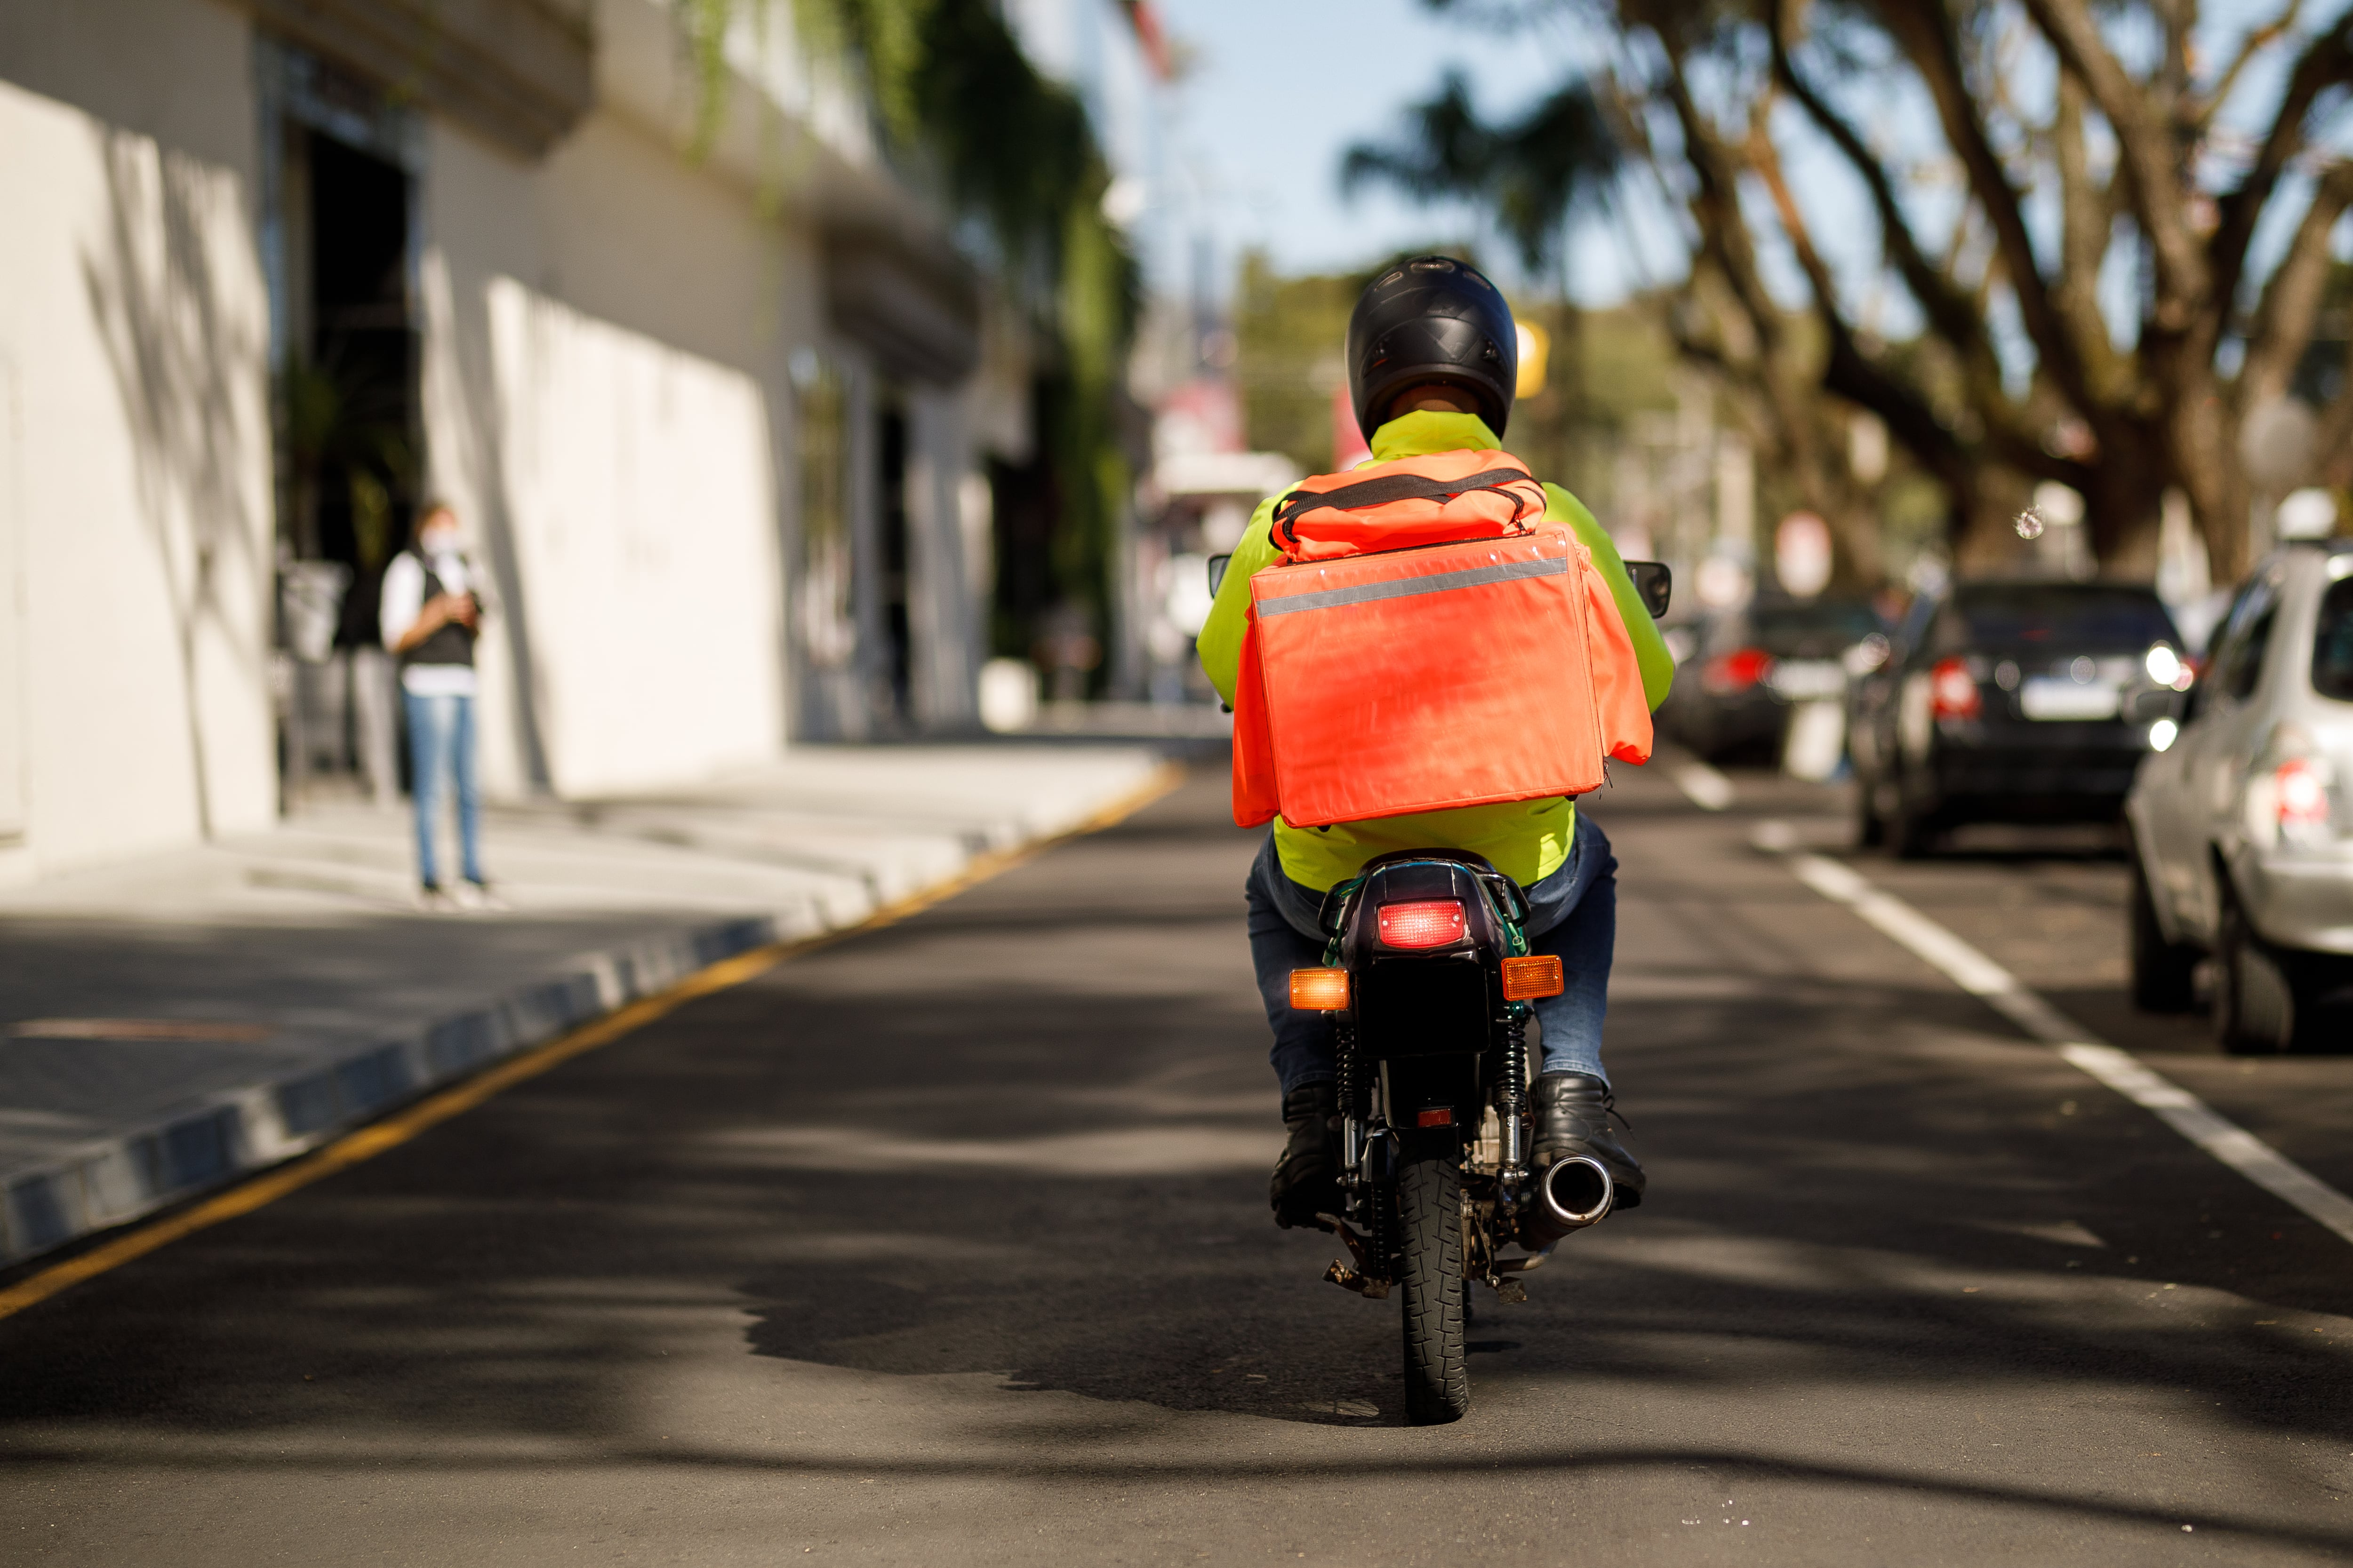
[[[1887,628],[1861,599],[1760,599],[1699,623],[1661,722],[1708,762],[1772,759],[1795,703],[1847,691],[1847,651]]]

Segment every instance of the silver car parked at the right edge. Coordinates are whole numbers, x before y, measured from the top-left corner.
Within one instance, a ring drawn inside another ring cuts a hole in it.
[[[2353,1044],[2353,541],[2266,557],[2165,724],[2125,802],[2132,999],[2188,1011],[2212,954],[2226,1051]]]

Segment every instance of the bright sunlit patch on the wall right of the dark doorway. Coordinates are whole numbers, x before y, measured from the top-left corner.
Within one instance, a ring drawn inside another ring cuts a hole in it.
[[[774,755],[784,567],[760,386],[504,277],[489,331],[553,790]]]

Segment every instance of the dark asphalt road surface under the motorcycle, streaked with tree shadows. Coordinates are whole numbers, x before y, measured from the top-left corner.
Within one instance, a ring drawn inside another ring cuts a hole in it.
[[[0,1321],[0,1559],[2353,1559],[2353,1248],[1746,846],[1835,792],[1593,809],[1649,1199],[1459,1425],[1266,1220],[1207,771]],[[2113,856],[1854,865],[2353,1185],[2353,1058],[2125,1009]]]

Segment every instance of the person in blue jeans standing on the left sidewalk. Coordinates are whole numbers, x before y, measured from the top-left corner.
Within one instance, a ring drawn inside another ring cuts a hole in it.
[[[400,661],[416,797],[419,907],[480,910],[496,900],[482,877],[482,797],[473,773],[473,644],[482,630],[475,574],[459,552],[456,510],[433,501],[416,517],[414,543],[384,569],[384,646]],[[442,783],[456,783],[456,837],[464,882],[442,889],[433,830]]]

